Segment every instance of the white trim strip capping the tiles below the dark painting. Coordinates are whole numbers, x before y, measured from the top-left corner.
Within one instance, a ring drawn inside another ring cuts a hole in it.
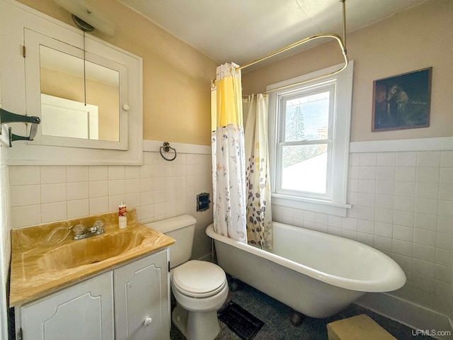
[[[453,150],[453,137],[415,138],[411,140],[373,140],[350,142],[349,152],[413,152]]]

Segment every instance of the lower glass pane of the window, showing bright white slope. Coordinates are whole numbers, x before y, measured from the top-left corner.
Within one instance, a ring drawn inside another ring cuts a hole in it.
[[[327,145],[282,147],[282,189],[326,193]]]

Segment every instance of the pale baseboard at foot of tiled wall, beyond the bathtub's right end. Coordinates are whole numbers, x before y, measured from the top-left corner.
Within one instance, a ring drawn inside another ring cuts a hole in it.
[[[367,293],[355,301],[355,304],[416,330],[450,331],[450,334],[453,334],[453,323],[447,315],[415,305],[413,302],[403,300],[394,295]],[[442,340],[452,339],[450,336],[433,337]]]

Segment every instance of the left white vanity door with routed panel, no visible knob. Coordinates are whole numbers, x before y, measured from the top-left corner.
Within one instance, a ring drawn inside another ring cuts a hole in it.
[[[23,340],[113,340],[112,271],[21,307]]]

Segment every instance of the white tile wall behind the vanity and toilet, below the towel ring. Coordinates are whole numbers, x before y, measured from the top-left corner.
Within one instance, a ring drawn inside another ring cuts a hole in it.
[[[205,227],[212,210],[197,212],[195,202],[198,193],[212,196],[210,154],[178,153],[166,162],[158,152],[144,152],[142,166],[9,166],[9,184],[13,228],[117,211],[124,200],[142,223],[193,215],[193,258],[211,251]]]

